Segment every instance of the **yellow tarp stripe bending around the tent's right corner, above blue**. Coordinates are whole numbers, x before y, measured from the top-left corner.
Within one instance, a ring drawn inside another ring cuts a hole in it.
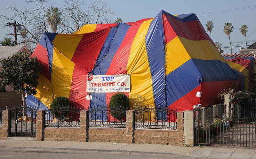
[[[191,58],[202,60],[220,60],[226,63],[216,46],[209,40],[188,40],[177,36],[165,45],[166,71],[170,72],[187,62]]]

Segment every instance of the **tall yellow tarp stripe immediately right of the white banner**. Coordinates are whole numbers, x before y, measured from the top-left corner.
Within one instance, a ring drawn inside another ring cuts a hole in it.
[[[141,95],[147,98],[148,101],[145,101],[146,103],[144,104],[152,104],[151,102],[154,101],[145,40],[145,36],[152,20],[153,19],[144,21],[140,25],[132,42],[126,68],[127,73],[131,75],[130,96]],[[154,103],[152,105],[154,106]]]

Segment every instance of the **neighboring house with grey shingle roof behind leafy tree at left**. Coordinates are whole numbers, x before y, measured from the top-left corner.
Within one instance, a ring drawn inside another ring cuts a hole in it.
[[[30,56],[32,55],[31,52],[28,50],[28,48],[24,45],[0,46],[0,58],[7,58],[9,56],[17,54],[18,52],[27,52]],[[1,70],[2,70],[2,67],[0,65],[0,71]],[[14,91],[13,88],[10,86],[5,87],[5,89],[7,92]]]

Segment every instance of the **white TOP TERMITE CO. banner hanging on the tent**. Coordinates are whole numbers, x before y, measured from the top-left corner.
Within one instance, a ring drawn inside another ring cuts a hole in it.
[[[86,92],[130,92],[130,75],[87,75]]]

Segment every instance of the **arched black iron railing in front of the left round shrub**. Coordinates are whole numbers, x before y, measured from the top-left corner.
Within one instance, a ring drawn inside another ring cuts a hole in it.
[[[45,110],[45,127],[80,127],[80,110],[62,106]]]

